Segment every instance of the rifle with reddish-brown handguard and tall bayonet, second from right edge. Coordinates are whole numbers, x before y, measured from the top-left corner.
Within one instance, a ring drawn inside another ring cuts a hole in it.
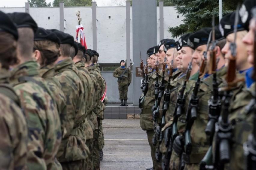
[[[236,86],[236,33],[237,33],[237,23],[238,23],[238,7],[235,16],[234,25],[234,41],[230,43],[231,58],[228,64],[227,70],[227,88],[224,91],[222,112],[219,117],[218,123],[215,127],[215,157],[214,157],[214,168],[223,170],[224,165],[230,162],[230,145],[232,139],[232,129],[230,127],[230,122],[228,120],[230,99],[233,95],[232,88]]]

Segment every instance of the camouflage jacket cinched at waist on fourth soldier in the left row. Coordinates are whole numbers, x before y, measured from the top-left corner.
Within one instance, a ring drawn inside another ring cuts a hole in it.
[[[62,139],[57,154],[59,162],[84,160],[88,157],[86,136],[80,127],[86,118],[84,85],[79,78],[79,71],[69,57],[55,65],[55,76],[67,99],[66,136]]]

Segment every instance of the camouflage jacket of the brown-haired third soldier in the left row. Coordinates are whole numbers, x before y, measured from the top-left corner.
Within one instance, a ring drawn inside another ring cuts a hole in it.
[[[44,66],[39,70],[39,75],[45,79],[45,81],[47,82],[47,86],[53,93],[54,98],[56,100],[59,117],[60,117],[60,122],[61,122],[62,137],[64,137],[67,133],[67,130],[66,130],[66,121],[67,121],[66,96],[62,92],[61,85],[60,85],[59,81],[54,77],[54,74],[55,74],[55,70],[54,70],[53,64]]]

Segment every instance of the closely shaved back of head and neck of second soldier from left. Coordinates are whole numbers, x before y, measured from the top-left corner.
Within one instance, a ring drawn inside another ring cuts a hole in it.
[[[34,32],[32,28],[18,28],[17,54],[25,60],[32,58]]]

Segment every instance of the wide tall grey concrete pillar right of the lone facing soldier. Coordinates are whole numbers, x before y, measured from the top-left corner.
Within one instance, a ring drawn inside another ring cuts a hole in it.
[[[147,50],[157,45],[157,2],[156,0],[133,0],[133,105],[139,105],[142,94],[142,77],[136,76],[140,52],[144,63]]]

